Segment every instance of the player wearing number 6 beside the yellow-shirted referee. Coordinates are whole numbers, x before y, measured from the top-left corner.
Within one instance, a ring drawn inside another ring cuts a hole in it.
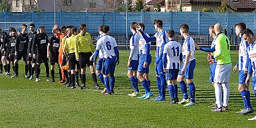
[[[103,54],[103,66],[102,74],[104,75],[104,86],[107,92],[104,95],[114,94],[114,71],[116,64],[119,64],[119,52],[116,40],[108,35],[109,27],[103,25],[102,27],[102,37],[97,41],[96,51],[94,53],[94,65],[98,57],[99,50]],[[110,86],[109,86],[109,77],[110,76]]]

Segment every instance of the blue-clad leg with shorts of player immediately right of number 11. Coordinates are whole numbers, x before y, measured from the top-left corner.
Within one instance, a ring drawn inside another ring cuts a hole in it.
[[[186,82],[189,87],[190,92],[190,102],[184,106],[194,105],[195,104],[195,84],[193,84],[193,70],[195,69],[195,60],[192,60],[188,63],[185,72]]]

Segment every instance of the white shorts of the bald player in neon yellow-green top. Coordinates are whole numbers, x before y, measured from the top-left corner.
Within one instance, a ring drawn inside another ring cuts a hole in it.
[[[228,83],[232,70],[232,64],[217,65],[215,68],[215,83]]]

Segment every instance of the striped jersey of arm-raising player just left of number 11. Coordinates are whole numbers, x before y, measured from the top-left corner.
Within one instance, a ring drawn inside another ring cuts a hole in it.
[[[168,36],[166,31],[156,32],[154,36],[156,37],[156,58],[158,58],[162,49],[162,44],[164,41],[168,42]]]

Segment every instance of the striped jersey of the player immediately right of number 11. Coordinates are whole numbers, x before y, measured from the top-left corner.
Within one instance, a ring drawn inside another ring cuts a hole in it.
[[[191,36],[188,36],[183,43],[182,46],[182,54],[183,54],[183,60],[185,62],[186,55],[188,52],[191,51],[190,61],[195,59],[195,45],[193,44],[193,38]]]

